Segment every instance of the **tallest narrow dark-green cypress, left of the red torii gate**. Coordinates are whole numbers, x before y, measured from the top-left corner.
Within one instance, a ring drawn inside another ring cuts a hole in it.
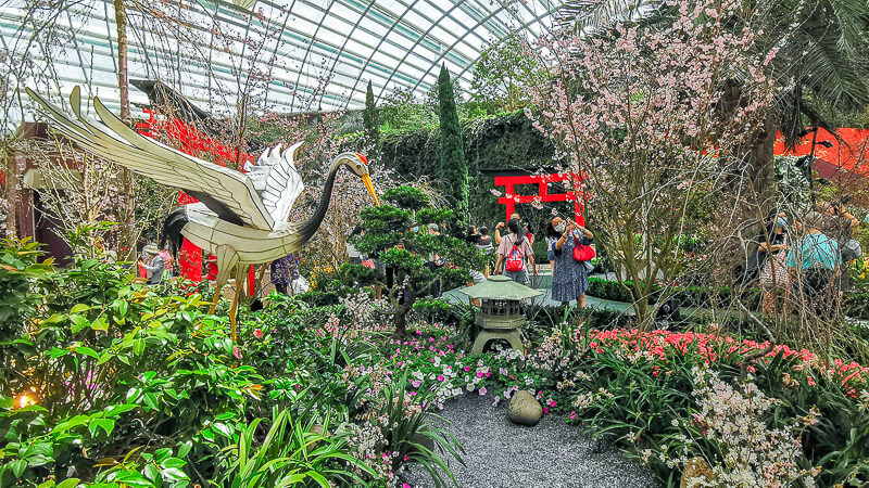
[[[458,125],[453,84],[445,65],[441,66],[438,77],[438,98],[441,123],[441,193],[455,204],[456,217],[467,220],[468,165],[465,163],[465,149],[462,145],[462,127]]]

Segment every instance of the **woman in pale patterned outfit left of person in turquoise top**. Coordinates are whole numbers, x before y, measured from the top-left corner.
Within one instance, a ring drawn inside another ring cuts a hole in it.
[[[760,253],[760,290],[764,295],[764,313],[776,313],[776,295],[784,292],[784,313],[788,313],[791,301],[791,273],[785,260],[788,258],[788,219],[784,213],[773,215],[767,220],[767,227],[758,237],[757,247]]]

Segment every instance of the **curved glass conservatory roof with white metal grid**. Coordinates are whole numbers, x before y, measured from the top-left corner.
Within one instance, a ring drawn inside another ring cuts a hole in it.
[[[23,0],[0,2],[7,52],[35,37]],[[396,89],[418,99],[441,64],[468,90],[480,52],[520,30],[533,40],[552,26],[551,0],[127,0],[129,78],[159,79],[221,113],[251,93],[279,112],[360,108],[368,81],[376,100]],[[56,95],[73,85],[118,108],[113,0],[70,2],[56,17]],[[63,39],[66,39],[65,41]],[[45,54],[42,54],[45,57]],[[45,61],[45,60],[42,60]],[[211,67],[209,67],[211,66]],[[247,88],[244,88],[247,87]],[[52,93],[53,91],[53,93]],[[134,103],[147,103],[130,91]]]

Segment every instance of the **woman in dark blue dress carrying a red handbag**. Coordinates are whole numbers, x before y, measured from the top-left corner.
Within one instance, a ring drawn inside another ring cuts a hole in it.
[[[591,241],[594,234],[570,220],[555,217],[550,222],[561,237],[553,244],[555,269],[552,275],[552,299],[567,305],[577,300],[580,308],[585,308],[585,291],[589,290],[589,272],[585,261],[594,257]]]

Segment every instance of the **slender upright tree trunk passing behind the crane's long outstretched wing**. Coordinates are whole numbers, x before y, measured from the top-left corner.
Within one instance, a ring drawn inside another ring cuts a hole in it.
[[[129,79],[127,75],[127,12],[124,0],[114,0],[115,25],[117,26],[117,88],[121,92],[121,119],[130,125]],[[118,257],[133,260],[136,255],[136,205],[133,194],[133,171],[121,168],[121,184],[124,194],[124,218],[121,232],[122,252]],[[126,253],[123,252],[126,248]]]

